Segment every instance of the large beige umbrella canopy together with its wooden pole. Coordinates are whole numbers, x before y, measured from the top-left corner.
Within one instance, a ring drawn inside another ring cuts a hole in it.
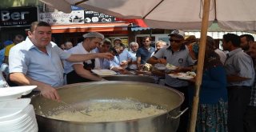
[[[94,10],[118,18],[143,19],[151,28],[201,29],[198,70],[195,82],[190,131],[194,131],[198,111],[198,94],[206,48],[207,27],[218,22],[223,29],[256,30],[255,0],[41,0],[64,12],[70,5]]]

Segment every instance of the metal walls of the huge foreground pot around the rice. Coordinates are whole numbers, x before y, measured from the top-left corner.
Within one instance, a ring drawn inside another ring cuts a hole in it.
[[[165,106],[165,114],[121,122],[66,122],[46,116],[61,105],[40,95],[32,98],[39,131],[86,132],[171,132],[178,128],[179,109],[184,100],[182,93],[145,82],[86,82],[62,86],[58,89],[67,103],[104,99],[134,98],[139,102]],[[174,118],[176,116],[176,118]]]

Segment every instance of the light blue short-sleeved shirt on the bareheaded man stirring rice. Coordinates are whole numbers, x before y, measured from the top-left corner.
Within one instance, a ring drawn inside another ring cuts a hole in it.
[[[46,51],[47,54],[38,50],[30,38],[26,38],[10,49],[10,73],[20,72],[53,87],[63,86],[62,59],[69,58],[70,54],[60,49],[54,42],[46,46]]]

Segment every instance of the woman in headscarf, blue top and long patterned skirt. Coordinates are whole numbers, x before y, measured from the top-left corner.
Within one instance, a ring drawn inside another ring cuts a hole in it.
[[[193,48],[196,56],[198,56],[197,49],[197,47]],[[227,131],[226,84],[226,71],[220,57],[214,52],[214,39],[207,36],[196,131]],[[191,88],[189,93],[191,98],[189,100],[192,100],[194,88]]]

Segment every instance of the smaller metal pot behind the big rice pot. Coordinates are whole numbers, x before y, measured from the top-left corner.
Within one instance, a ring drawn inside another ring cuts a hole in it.
[[[132,81],[132,82],[149,82],[149,83],[155,82],[154,78],[150,76],[130,75],[130,74],[106,76],[103,78],[105,78],[108,81]]]

